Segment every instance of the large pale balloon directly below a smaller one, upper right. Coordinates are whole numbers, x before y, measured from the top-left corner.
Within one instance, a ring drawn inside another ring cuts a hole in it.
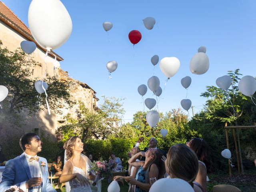
[[[194,74],[204,74],[209,69],[209,58],[208,56],[203,53],[196,53],[192,59],[190,60],[189,68],[190,71]]]

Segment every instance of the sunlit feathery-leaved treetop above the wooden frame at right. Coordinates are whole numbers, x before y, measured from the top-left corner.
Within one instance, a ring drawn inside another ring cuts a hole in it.
[[[228,75],[232,79],[230,89],[222,90],[216,86],[206,86],[206,92],[201,96],[209,98],[205,104],[206,118],[238,124],[245,118],[244,112],[248,107],[251,108],[252,102],[238,90],[237,83],[240,80],[238,76],[242,75],[239,74],[239,69],[228,71]]]

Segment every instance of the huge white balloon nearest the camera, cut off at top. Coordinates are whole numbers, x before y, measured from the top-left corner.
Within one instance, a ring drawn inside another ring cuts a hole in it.
[[[62,46],[72,32],[72,20],[60,0],[32,0],[28,25],[36,42],[47,50]]]

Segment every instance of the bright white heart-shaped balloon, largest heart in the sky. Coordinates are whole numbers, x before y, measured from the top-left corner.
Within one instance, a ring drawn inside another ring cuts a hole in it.
[[[165,57],[160,61],[160,69],[162,73],[170,78],[176,74],[180,68],[180,60],[176,57]]]

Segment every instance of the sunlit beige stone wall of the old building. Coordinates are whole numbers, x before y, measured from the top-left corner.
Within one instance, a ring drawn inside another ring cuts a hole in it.
[[[7,47],[10,51],[14,51],[20,47],[20,42],[28,39],[26,39],[25,36],[16,30],[7,26],[4,22],[0,21],[0,40],[2,40],[3,47]],[[48,55],[46,59],[46,66],[44,50],[37,47],[36,50],[30,55],[30,57],[33,57],[35,61],[40,63],[40,66],[31,67],[31,72],[33,71],[33,75],[30,78],[42,78],[45,71],[47,71],[50,76],[54,75],[55,60],[52,56]],[[68,76],[68,72],[64,72],[63,70],[59,69],[57,70],[57,74],[61,80],[69,81],[72,83],[72,100],[81,100],[85,103],[86,107],[88,107],[90,110],[94,110],[94,105],[96,105],[96,101],[98,100],[94,95],[96,94],[94,90],[92,90],[87,84],[70,78]],[[63,104],[63,106],[66,106],[66,104]],[[47,110],[40,110],[38,114],[28,115],[24,109],[21,113],[24,120],[20,122],[19,125],[14,125],[12,122],[4,122],[0,117],[0,137],[5,137],[8,139],[8,133],[26,133],[35,130],[40,134],[41,130],[46,130],[47,132],[52,132],[52,139],[54,139],[55,130],[59,126],[63,125],[63,123],[65,123],[64,116],[68,113],[71,113],[73,116],[75,116],[77,109],[78,104],[68,110],[62,108],[62,114],[54,114],[52,112],[51,115],[48,115]]]

